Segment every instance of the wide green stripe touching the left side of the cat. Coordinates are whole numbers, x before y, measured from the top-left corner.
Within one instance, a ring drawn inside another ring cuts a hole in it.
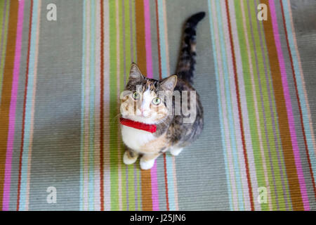
[[[116,32],[116,7],[115,1],[109,1],[110,19],[110,182],[111,182],[111,210],[119,210],[119,197],[117,190],[118,182],[118,160],[117,160],[117,32]]]

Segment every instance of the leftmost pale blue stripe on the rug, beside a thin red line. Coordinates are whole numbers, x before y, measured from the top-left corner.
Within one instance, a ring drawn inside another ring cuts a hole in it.
[[[34,0],[32,8],[32,29],[31,29],[31,41],[29,49],[29,77],[27,81],[27,97],[25,105],[25,136],[23,141],[22,151],[22,168],[21,168],[21,189],[20,189],[20,210],[25,210],[26,207],[26,191],[27,191],[27,162],[29,160],[29,130],[31,129],[30,118],[32,110],[32,96],[34,88],[34,63],[35,63],[35,51],[36,51],[36,39],[37,39],[37,8],[39,1]]]

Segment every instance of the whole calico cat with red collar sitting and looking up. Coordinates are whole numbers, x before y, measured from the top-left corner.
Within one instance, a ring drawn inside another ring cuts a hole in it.
[[[132,63],[120,105],[121,136],[127,147],[123,156],[126,165],[133,164],[141,156],[140,168],[151,169],[159,155],[168,150],[171,155],[178,155],[201,134],[203,108],[199,94],[192,87],[192,79],[196,63],[196,27],[204,16],[204,12],[197,13],[185,23],[176,75],[150,79]],[[176,96],[172,97],[176,91],[180,93],[178,102]],[[189,92],[187,108],[190,115],[176,115],[175,111],[180,108],[177,103],[185,103],[186,98],[181,95],[185,91]],[[172,99],[172,107],[168,107],[167,99]],[[194,107],[190,103],[194,103]],[[192,121],[185,122],[189,117]]]

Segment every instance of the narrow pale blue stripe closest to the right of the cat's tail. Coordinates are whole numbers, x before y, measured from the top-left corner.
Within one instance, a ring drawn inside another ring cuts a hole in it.
[[[218,98],[218,114],[220,117],[220,134],[222,137],[222,145],[223,145],[223,154],[224,154],[224,161],[225,161],[225,172],[226,172],[226,181],[228,184],[228,187],[231,187],[230,184],[230,175],[229,175],[229,169],[228,169],[228,155],[227,155],[227,146],[225,144],[225,134],[224,134],[224,125],[223,125],[223,111],[222,111],[222,104],[220,101],[220,84],[219,84],[219,73],[218,73],[218,62],[217,62],[217,56],[216,56],[216,44],[215,44],[215,32],[213,27],[213,15],[211,12],[211,0],[207,1],[209,6],[209,25],[210,25],[210,31],[211,31],[211,40],[212,40],[212,50],[213,50],[213,60],[214,60],[214,68],[215,68],[215,74],[216,74],[216,91],[217,91],[217,98]],[[232,208],[232,193],[231,189],[228,188],[228,197],[230,200],[230,210],[233,210]]]

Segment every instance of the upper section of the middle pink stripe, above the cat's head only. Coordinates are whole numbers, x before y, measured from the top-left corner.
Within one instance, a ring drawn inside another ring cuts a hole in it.
[[[145,47],[146,47],[146,62],[147,62],[147,77],[152,78],[152,36],[150,31],[150,3],[149,0],[144,0],[145,14]]]

